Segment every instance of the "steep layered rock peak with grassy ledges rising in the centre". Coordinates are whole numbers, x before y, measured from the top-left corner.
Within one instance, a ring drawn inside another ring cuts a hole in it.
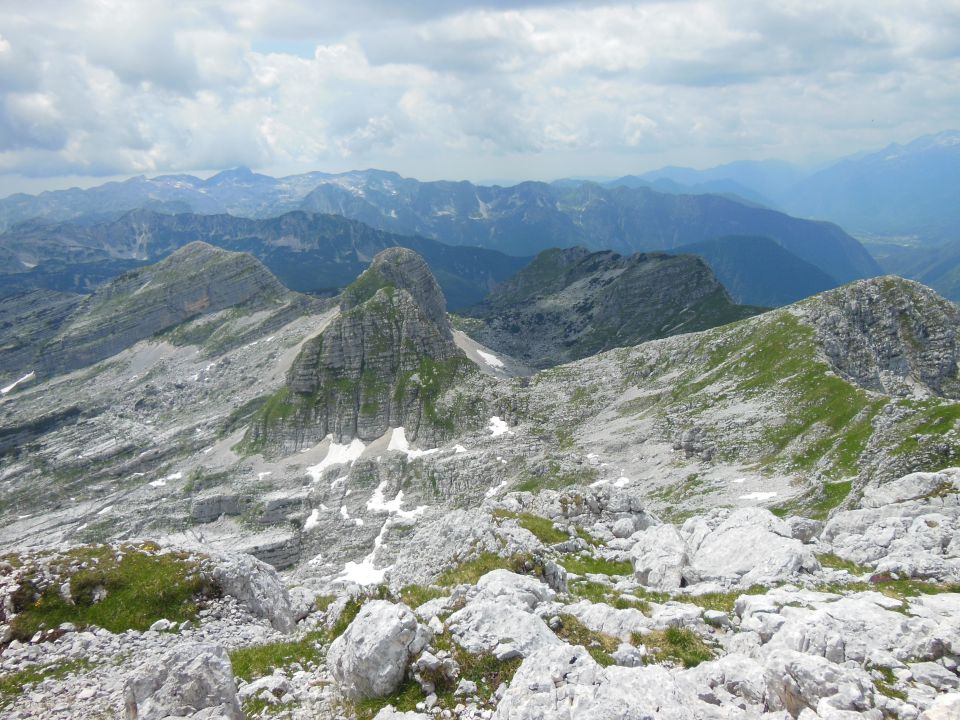
[[[304,346],[248,442],[291,451],[327,434],[373,440],[391,427],[411,439],[442,435],[457,419],[441,417],[435,402],[473,367],[423,259],[385,250],[344,291],[339,317]]]

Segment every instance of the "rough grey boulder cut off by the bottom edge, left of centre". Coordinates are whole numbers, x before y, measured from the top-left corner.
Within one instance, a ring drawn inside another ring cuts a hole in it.
[[[127,720],[192,716],[242,720],[233,667],[219,645],[182,645],[162,661],[148,661],[124,687]]]

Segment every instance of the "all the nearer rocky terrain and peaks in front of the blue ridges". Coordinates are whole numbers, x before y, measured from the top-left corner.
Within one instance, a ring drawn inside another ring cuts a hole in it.
[[[0,302],[0,708],[950,717],[956,306],[554,249],[486,305],[533,372],[445,305],[408,248],[333,301],[202,242]]]

